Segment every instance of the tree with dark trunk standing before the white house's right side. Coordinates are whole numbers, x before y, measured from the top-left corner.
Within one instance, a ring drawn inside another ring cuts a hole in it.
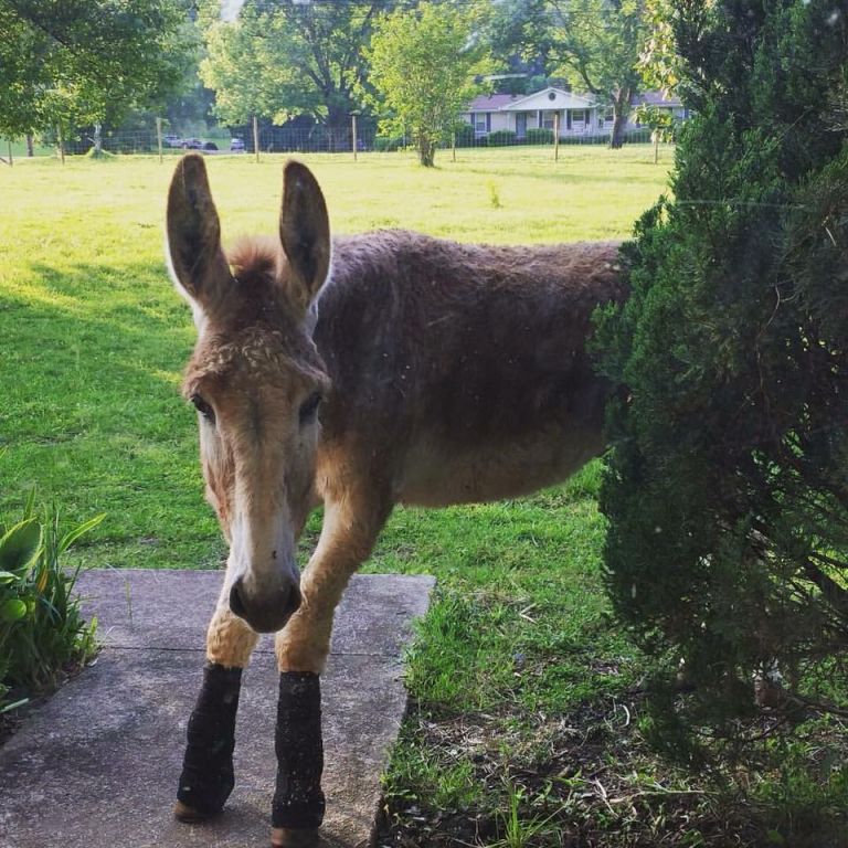
[[[646,36],[645,0],[549,0],[558,73],[612,106],[610,147],[624,144],[630,102],[639,91]]]

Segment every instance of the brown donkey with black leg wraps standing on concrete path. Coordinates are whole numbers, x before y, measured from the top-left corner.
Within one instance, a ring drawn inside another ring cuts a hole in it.
[[[229,255],[203,159],[168,195],[168,252],[198,329],[183,391],[206,498],[230,544],[188,727],[176,816],[221,812],[233,785],[242,669],[276,633],[276,848],[318,844],[319,676],[333,611],[394,504],[513,497],[602,448],[607,386],[591,315],[621,301],[618,244],[457,244],[403,231],[330,240],[321,190],[285,166],[279,240]],[[296,544],[324,505],[303,575]]]

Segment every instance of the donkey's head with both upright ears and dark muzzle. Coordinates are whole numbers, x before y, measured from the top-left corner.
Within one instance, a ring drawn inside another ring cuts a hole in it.
[[[206,498],[230,542],[230,606],[258,632],[282,628],[300,604],[296,544],[315,502],[329,386],[307,329],[329,272],[329,222],[298,162],[285,169],[279,236],[282,250],[247,244],[231,271],[203,159],[177,166],[168,251],[198,328],[183,392],[198,410]]]

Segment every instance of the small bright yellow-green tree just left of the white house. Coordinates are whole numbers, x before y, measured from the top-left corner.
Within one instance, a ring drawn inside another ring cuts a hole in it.
[[[399,9],[378,20],[365,51],[378,103],[389,113],[381,128],[407,131],[424,167],[433,167],[436,146],[480,91],[475,76],[491,68],[478,23],[474,7]]]

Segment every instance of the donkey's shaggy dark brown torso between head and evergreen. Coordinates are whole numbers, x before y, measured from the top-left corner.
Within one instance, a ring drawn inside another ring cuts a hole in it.
[[[616,254],[337,240],[315,330],[332,383],[319,489],[336,486],[325,449],[410,504],[502,498],[573,471],[601,446],[585,339],[595,306],[622,295]]]

